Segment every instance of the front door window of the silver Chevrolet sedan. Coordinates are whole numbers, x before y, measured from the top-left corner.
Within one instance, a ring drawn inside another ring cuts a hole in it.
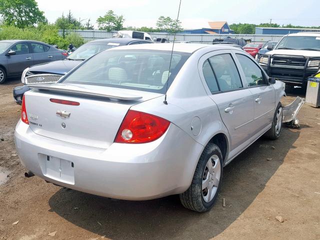
[[[266,84],[262,70],[247,56],[236,54],[243,69],[245,80],[248,86],[259,86]]]

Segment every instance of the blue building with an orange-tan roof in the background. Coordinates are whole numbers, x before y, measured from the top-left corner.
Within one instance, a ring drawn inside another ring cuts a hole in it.
[[[230,29],[226,21],[209,21],[209,27],[199,29],[184,29],[180,33],[185,34],[231,34],[233,30]]]

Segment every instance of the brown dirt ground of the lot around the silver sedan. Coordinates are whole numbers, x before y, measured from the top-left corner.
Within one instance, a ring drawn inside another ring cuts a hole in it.
[[[19,84],[0,85],[0,239],[320,239],[319,108],[304,104],[300,129],[258,139],[234,159],[212,210],[196,213],[177,196],[114,200],[25,178],[13,142]]]

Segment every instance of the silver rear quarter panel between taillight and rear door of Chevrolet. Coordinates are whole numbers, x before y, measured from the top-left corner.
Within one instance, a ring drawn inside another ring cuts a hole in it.
[[[221,121],[217,105],[203,87],[197,69],[199,56],[196,53],[185,62],[168,89],[167,104],[163,103],[163,95],[134,105],[130,109],[146,111],[173,122],[204,147],[217,133],[223,133],[229,140],[229,133]],[[194,121],[199,124],[193,125],[191,129]],[[198,158],[194,159],[195,163],[197,160]]]

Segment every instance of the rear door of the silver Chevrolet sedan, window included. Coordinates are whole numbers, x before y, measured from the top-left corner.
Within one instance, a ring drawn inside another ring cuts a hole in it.
[[[242,84],[233,57],[230,50],[214,51],[204,56],[202,67],[209,97],[229,132],[229,159],[250,144],[254,114],[252,94]]]

